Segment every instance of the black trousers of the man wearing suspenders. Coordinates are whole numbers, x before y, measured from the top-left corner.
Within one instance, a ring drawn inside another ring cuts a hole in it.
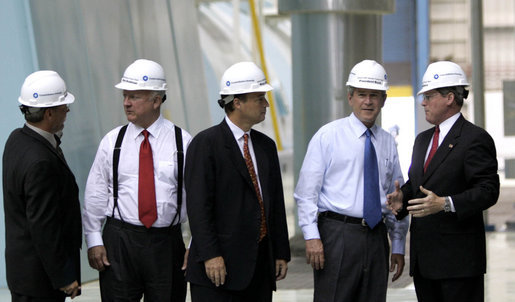
[[[111,266],[100,272],[102,301],[185,301],[179,225],[146,229],[108,218],[103,240]]]

